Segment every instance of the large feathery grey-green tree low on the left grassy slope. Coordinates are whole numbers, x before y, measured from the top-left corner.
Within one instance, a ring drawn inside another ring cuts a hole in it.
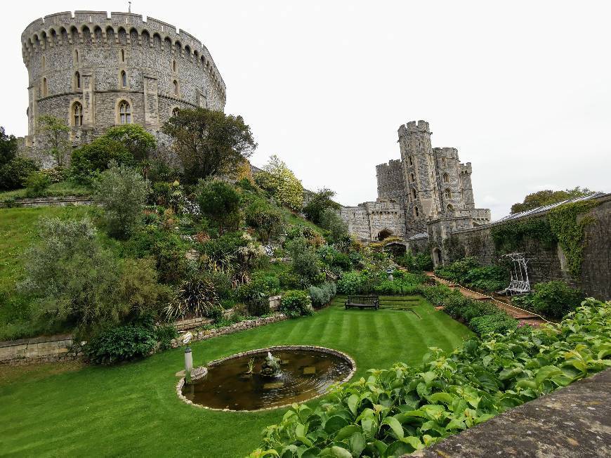
[[[119,269],[87,218],[41,218],[39,244],[25,254],[24,292],[49,327],[73,325],[80,336],[117,324],[126,313],[114,294]]]

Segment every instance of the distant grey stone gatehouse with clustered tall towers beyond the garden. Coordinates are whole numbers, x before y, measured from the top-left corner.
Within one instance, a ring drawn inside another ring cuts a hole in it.
[[[376,166],[376,202],[341,211],[357,237],[376,240],[386,229],[409,240],[441,221],[454,229],[490,223],[489,209],[475,209],[471,163],[461,164],[456,148],[433,148],[426,121],[403,124],[398,135],[401,159]]]

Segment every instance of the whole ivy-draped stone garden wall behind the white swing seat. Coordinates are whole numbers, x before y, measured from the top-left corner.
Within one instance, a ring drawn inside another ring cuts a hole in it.
[[[531,283],[563,280],[597,299],[611,298],[611,195],[565,204],[546,214],[453,233],[444,261],[476,256],[484,265],[524,252]]]

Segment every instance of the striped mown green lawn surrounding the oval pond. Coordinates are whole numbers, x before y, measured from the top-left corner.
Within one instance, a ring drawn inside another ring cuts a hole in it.
[[[392,300],[391,300],[392,299]],[[383,298],[382,305],[396,305]],[[395,361],[420,362],[428,346],[450,350],[473,335],[421,298],[405,310],[343,310],[343,298],[314,316],[193,344],[194,362],[281,344],[336,348],[357,363],[355,377]],[[180,401],[178,348],[115,367],[11,368],[0,377],[0,454],[12,456],[242,457],[285,410],[211,412]]]

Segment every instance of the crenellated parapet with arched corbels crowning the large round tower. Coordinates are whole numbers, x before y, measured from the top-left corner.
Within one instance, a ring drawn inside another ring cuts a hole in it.
[[[136,34],[138,44],[142,44],[143,35],[154,39],[159,37],[163,46],[169,44],[172,50],[195,58],[197,63],[209,70],[214,84],[226,98],[225,81],[221,77],[216,64],[208,48],[192,34],[178,29],[176,26],[157,20],[146,18],[135,13],[121,13],[106,11],[64,11],[46,15],[44,18],[33,20],[25,27],[21,34],[23,60],[28,65],[34,53],[44,50],[46,46],[60,46],[63,44],[74,44],[74,39],[82,43],[84,30],[94,34],[100,30],[103,37],[102,44],[108,44],[107,32],[112,32],[118,37],[122,30],[127,34],[127,42],[131,44],[131,35]],[[66,36],[65,41],[63,37]],[[118,41],[116,41],[118,43]]]

